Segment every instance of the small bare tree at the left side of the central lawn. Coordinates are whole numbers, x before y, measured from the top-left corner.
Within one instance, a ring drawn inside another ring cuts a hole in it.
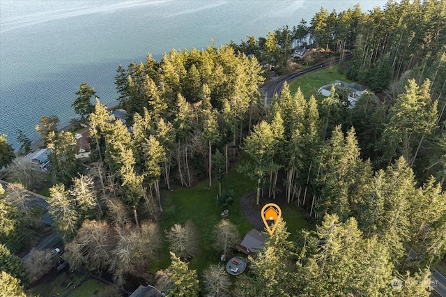
[[[199,252],[199,235],[192,222],[187,221],[184,227],[174,224],[169,231],[165,231],[170,243],[170,250],[178,257],[187,258],[197,256]]]

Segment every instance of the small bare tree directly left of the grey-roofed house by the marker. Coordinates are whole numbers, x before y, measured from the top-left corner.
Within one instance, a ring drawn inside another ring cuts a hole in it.
[[[213,247],[218,252],[224,252],[225,256],[228,250],[235,247],[240,241],[240,234],[238,234],[237,227],[231,224],[229,220],[220,220],[215,225],[213,234],[215,238]]]

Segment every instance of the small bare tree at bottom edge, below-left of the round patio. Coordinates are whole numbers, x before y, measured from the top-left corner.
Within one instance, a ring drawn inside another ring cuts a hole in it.
[[[231,296],[231,280],[220,264],[212,264],[203,271],[203,284],[208,297]]]

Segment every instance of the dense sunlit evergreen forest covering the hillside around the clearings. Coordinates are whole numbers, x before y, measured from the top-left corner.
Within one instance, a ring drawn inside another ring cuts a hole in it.
[[[286,73],[296,44],[323,49],[303,63],[353,51],[337,68],[370,91],[351,107],[345,90],[305,98],[285,84],[266,104],[259,86],[270,65]],[[73,107],[89,121],[88,172],[71,157],[72,133],[57,132],[52,117],[38,125],[52,150],[48,203],[66,259],[108,271],[121,286],[148,271],[166,237],[175,254],[157,286],[168,296],[198,296],[187,263],[197,257],[199,232],[186,222],[164,236],[163,196],[203,179],[216,187],[231,163],[256,185],[246,189],[256,190],[256,204],[281,195],[317,227],[289,238],[281,222],[235,291],[210,266],[230,289],[215,293],[204,273],[203,296],[429,296],[429,269],[446,252],[445,51],[445,1],[389,1],[368,13],[321,8],[292,30],[119,66],[125,121],[100,99],[91,104],[96,94],[81,84]],[[13,207],[1,197],[6,211]],[[2,230],[5,249],[17,239],[14,216]],[[419,258],[410,258],[413,250]],[[396,277],[402,288],[391,285]]]

